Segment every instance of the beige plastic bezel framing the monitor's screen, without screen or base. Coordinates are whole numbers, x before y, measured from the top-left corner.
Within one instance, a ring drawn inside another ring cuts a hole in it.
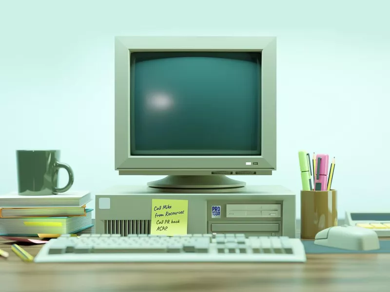
[[[261,155],[131,155],[130,55],[153,51],[261,52]],[[115,169],[139,175],[276,170],[276,37],[115,37]]]

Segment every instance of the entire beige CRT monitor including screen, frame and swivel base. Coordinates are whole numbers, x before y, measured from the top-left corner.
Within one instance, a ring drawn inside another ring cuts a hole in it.
[[[226,189],[276,169],[275,37],[116,37],[115,168]]]

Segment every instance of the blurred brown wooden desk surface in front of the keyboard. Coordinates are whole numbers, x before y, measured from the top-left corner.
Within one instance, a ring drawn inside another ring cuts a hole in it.
[[[87,231],[88,232],[88,231]],[[91,232],[91,231],[89,231]],[[31,255],[40,245],[20,244]],[[36,264],[0,238],[1,292],[389,291],[390,254],[308,255],[307,263]]]

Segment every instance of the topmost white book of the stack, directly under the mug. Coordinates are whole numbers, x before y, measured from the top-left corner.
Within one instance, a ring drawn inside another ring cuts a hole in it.
[[[17,192],[0,195],[1,208],[81,207],[91,201],[89,191],[67,191],[49,196],[21,196]]]

